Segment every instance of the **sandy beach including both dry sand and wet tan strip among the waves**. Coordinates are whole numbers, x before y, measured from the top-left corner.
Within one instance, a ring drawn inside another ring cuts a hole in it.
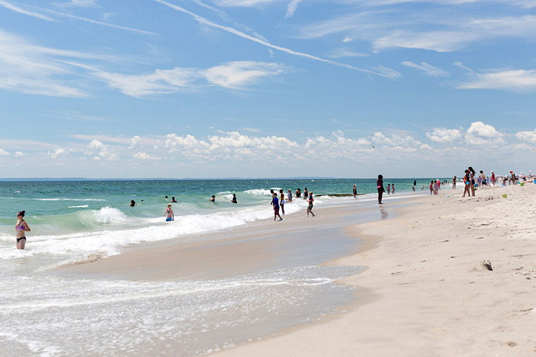
[[[226,277],[292,260],[311,232],[322,249],[322,240],[344,229],[340,235],[361,240],[358,249],[323,265],[365,267],[339,281],[359,289],[350,306],[215,355],[533,356],[536,185],[461,195],[447,187],[438,196],[388,203],[361,224],[348,219],[359,209],[319,209],[314,219],[265,220],[234,229],[233,238],[214,233],[203,242],[133,249],[56,271],[149,281]]]

